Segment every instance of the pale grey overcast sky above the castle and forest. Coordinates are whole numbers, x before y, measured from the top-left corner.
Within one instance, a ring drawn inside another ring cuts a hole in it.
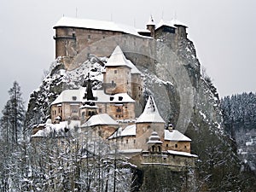
[[[76,13],[76,9],[78,10]],[[189,39],[220,96],[256,91],[256,1],[234,0],[1,0],[0,109],[16,80],[27,102],[55,59],[55,25],[61,16],[113,20],[143,28],[148,16],[189,26]]]

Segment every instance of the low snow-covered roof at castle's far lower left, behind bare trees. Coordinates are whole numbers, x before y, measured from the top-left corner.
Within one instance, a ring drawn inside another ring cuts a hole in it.
[[[61,121],[59,124],[46,124],[43,130],[39,130],[32,137],[49,137],[54,136],[60,137],[65,136],[67,130],[73,130],[75,127],[80,126],[79,120]]]

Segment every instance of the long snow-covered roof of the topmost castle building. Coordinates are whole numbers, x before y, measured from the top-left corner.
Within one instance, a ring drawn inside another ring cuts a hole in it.
[[[72,17],[61,17],[60,20],[57,21],[54,28],[60,26],[70,26],[70,27],[79,27],[79,28],[87,28],[87,29],[98,29],[98,30],[106,30],[113,32],[124,32],[126,34],[135,35],[141,38],[145,38],[137,33],[137,30],[133,26],[127,26],[124,24],[118,24],[113,21],[107,20],[87,20],[87,19],[79,19]]]

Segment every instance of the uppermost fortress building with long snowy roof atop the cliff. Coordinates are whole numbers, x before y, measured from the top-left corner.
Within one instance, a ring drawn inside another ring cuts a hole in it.
[[[152,69],[157,55],[156,41],[175,50],[177,42],[187,38],[186,28],[174,20],[160,20],[156,25],[152,18],[146,29],[137,30],[112,21],[62,17],[54,26],[55,57],[61,56],[66,69],[73,70],[90,54],[108,56],[119,45],[133,63]]]

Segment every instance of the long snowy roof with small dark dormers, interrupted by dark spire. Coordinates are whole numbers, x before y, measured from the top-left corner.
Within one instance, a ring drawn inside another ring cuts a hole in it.
[[[84,100],[84,92],[85,89],[79,89],[79,90],[63,90],[61,92],[61,95],[58,96],[54,102],[51,103],[51,105],[59,104],[62,102],[71,102],[74,104],[79,104],[81,102],[86,102],[87,100]],[[92,90],[93,96],[96,97],[96,103],[127,103],[127,102],[135,102],[131,96],[129,96],[127,93],[118,93],[114,95],[107,95],[105,94],[104,90]]]

